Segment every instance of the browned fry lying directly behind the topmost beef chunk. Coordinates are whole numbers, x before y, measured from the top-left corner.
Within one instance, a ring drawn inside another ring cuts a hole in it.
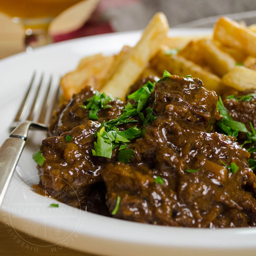
[[[152,59],[151,64],[159,73],[167,70],[171,74],[178,76],[186,77],[187,75],[191,75],[192,77],[198,77],[203,81],[204,87],[207,90],[215,90],[219,93],[222,89],[221,79],[218,76],[209,73],[180,55],[166,55],[165,52],[161,51]]]

